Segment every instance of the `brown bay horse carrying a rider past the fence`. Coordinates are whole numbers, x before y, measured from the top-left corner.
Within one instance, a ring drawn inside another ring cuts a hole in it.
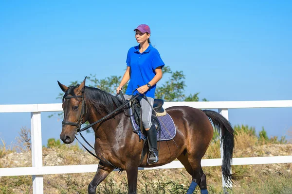
[[[85,86],[85,80],[80,85],[70,87],[58,82],[62,91],[65,92],[62,104],[64,121],[60,134],[60,139],[65,144],[71,144],[74,141],[76,126],[86,121],[93,123],[123,104],[118,97],[100,89]],[[146,157],[142,163],[140,162],[143,141],[139,142],[139,136],[132,132],[130,119],[123,111],[113,114],[92,127],[95,134],[96,154],[102,154],[103,158],[115,167],[126,170],[129,194],[137,192],[138,167],[161,166],[175,159],[182,162],[192,176],[192,184],[187,194],[193,193],[197,185],[202,194],[207,194],[206,175],[201,168],[201,159],[213,137],[213,126],[209,118],[215,128],[221,132],[224,150],[223,177],[227,182],[237,178],[230,173],[234,131],[222,115],[214,111],[201,111],[187,106],[170,107],[166,109],[166,112],[172,117],[177,133],[174,141],[160,143],[159,162],[150,166],[146,162]],[[108,162],[99,162],[97,172],[88,186],[89,194],[95,194],[99,183],[114,169]]]

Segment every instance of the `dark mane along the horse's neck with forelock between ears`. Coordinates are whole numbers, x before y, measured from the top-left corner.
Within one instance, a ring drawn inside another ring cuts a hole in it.
[[[73,90],[78,86],[79,85],[70,86],[63,97],[63,101],[69,94],[76,97]],[[114,111],[115,108],[123,104],[122,100],[118,97],[112,96],[98,88],[85,86],[84,93],[86,102],[90,103],[98,113],[109,114]]]

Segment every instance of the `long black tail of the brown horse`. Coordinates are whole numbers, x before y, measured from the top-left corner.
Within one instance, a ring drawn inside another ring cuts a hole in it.
[[[237,173],[230,173],[235,140],[234,130],[229,121],[221,114],[210,110],[203,110],[203,112],[211,119],[215,129],[219,132],[219,134],[221,129],[220,144],[223,144],[222,175],[225,182],[228,184],[233,182],[233,180],[240,178],[237,176]]]

